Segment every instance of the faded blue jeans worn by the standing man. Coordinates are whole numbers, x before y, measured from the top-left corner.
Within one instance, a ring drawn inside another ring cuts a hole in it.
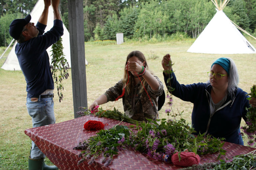
[[[32,99],[33,101],[31,101],[31,98],[27,98],[26,105],[28,114],[32,117],[33,127],[39,127],[55,123],[53,98],[38,98],[37,101],[35,101],[35,98]],[[40,149],[35,145],[33,141],[31,158],[45,158],[45,155],[40,151]]]

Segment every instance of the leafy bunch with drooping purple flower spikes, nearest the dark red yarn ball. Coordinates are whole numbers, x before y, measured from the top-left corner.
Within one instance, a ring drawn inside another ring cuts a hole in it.
[[[103,153],[102,163],[105,163],[105,166],[109,166],[113,160],[113,156],[118,155],[118,151],[123,149],[129,135],[128,127],[122,125],[116,125],[108,130],[100,130],[96,133],[96,136],[84,140],[73,148],[83,150],[79,155],[82,159],[78,164],[82,163],[85,161],[85,158],[87,158],[91,159],[88,162],[88,164],[91,165],[95,162],[95,159]]]

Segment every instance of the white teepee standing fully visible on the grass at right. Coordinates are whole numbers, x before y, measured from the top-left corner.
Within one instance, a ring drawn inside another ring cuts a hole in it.
[[[228,2],[229,0],[224,0],[218,5],[217,0],[213,1],[218,8],[217,13],[187,52],[207,54],[256,53],[256,49],[223,12],[223,8]]]

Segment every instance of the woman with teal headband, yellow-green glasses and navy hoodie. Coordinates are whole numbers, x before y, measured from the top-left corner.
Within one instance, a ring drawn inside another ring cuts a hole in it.
[[[167,64],[170,55],[163,57],[165,71],[172,70]],[[246,121],[246,108],[250,107],[246,92],[238,88],[238,73],[230,58],[219,58],[211,66],[207,83],[180,84],[174,73],[163,72],[166,86],[174,88],[172,95],[194,104],[192,126],[196,133],[211,134],[216,138],[225,138],[230,143],[244,145],[240,132],[240,123]],[[167,83],[167,79],[170,84]]]

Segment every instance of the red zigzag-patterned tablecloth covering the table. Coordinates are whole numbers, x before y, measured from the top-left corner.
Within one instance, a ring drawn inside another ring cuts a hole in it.
[[[107,123],[108,125],[105,126],[105,129],[109,129],[120,122],[108,118],[83,116],[61,123],[27,129],[25,130],[25,134],[28,135],[46,157],[61,170],[171,170],[181,168],[162,161],[156,161],[153,158],[149,158],[146,155],[134,152],[130,149],[119,151],[119,155],[114,156],[109,167],[105,167],[101,163],[103,159],[102,157],[98,157],[95,160],[96,162],[92,165],[88,165],[87,161],[77,165],[77,162],[81,159],[78,158],[81,150],[73,150],[73,148],[77,146],[79,142],[94,136],[97,132],[84,129],[83,125],[88,120],[100,120],[104,124]],[[124,125],[130,124],[124,122]],[[246,154],[255,150],[255,148],[227,142],[224,144],[223,149],[227,151],[227,158]],[[218,154],[201,156],[200,163],[216,161],[217,157]]]

